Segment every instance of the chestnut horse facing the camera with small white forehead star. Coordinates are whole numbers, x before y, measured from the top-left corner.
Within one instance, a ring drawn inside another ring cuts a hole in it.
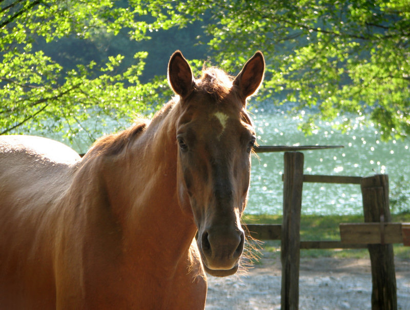
[[[203,309],[206,274],[236,273],[255,131],[247,99],[264,58],[194,78],[151,121],[83,158],[50,139],[0,139],[1,309]],[[197,238],[195,238],[197,234]]]

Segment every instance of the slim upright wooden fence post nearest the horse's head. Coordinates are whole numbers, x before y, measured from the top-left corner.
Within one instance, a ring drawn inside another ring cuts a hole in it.
[[[303,153],[286,152],[283,170],[281,310],[299,307],[300,210],[302,206]]]

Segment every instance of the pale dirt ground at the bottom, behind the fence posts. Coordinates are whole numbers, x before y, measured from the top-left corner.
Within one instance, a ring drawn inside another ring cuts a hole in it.
[[[398,309],[410,309],[410,261],[396,260]],[[280,258],[266,254],[248,275],[208,277],[207,310],[280,309]],[[300,310],[371,309],[370,260],[302,258]]]

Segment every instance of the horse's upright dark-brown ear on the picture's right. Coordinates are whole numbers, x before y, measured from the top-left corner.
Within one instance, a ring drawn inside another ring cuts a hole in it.
[[[258,90],[263,80],[264,71],[265,60],[263,54],[257,51],[243,66],[242,71],[235,77],[233,82],[243,98],[251,96]]]

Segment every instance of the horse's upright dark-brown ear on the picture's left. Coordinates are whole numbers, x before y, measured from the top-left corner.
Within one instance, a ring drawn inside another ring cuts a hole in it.
[[[168,64],[168,82],[174,92],[181,97],[188,96],[194,89],[194,75],[187,59],[180,51],[172,54]]]

